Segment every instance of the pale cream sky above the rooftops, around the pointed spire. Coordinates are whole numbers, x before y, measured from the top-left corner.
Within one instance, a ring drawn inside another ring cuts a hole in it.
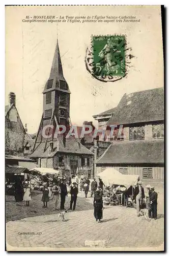
[[[136,15],[140,23],[23,23],[26,15]],[[85,65],[92,35],[125,34],[132,48],[127,77],[115,82],[93,78]],[[160,7],[137,6],[9,6],[6,7],[6,104],[16,94],[16,107],[29,133],[38,130],[43,89],[59,40],[63,73],[71,91],[73,124],[114,108],[125,93],[163,87]]]

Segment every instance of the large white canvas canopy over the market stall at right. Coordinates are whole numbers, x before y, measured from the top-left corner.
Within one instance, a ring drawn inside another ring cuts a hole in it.
[[[118,172],[115,168],[106,168],[98,174],[98,177],[102,179],[104,185],[124,185],[130,187],[136,185],[139,176],[138,175],[124,175]]]

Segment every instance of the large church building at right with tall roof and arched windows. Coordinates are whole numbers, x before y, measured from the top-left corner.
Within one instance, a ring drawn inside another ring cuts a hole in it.
[[[163,88],[125,94],[106,124],[103,140],[111,144],[95,161],[95,175],[114,167],[145,181],[164,180]],[[113,136],[109,125],[116,127]]]

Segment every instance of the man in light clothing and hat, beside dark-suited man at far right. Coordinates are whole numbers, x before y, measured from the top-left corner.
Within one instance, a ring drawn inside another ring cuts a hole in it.
[[[139,217],[139,211],[142,207],[143,199],[145,198],[144,188],[142,187],[142,181],[138,181],[138,186],[134,190],[133,199],[136,201],[137,216]]]

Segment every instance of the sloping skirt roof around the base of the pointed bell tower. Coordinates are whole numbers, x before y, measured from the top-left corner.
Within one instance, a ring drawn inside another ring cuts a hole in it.
[[[49,141],[46,143],[46,149],[45,148],[45,142],[36,143],[34,152],[29,155],[31,158],[45,158],[45,157],[53,157],[56,153],[69,153],[69,154],[84,154],[84,155],[94,155],[90,150],[88,150],[87,147],[83,146],[79,140],[74,139],[72,136],[66,139],[66,143],[64,145],[63,143],[63,136],[58,136],[58,141],[53,141],[53,152],[49,154]]]

